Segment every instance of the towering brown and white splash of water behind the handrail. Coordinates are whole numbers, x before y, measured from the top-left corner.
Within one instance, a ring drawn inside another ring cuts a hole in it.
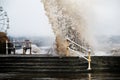
[[[42,0],[42,2],[56,35],[58,54],[67,54],[66,37],[86,48],[92,46],[90,31],[86,23],[86,9],[89,7],[86,2],[89,3],[89,0]],[[71,47],[79,50],[75,45]]]

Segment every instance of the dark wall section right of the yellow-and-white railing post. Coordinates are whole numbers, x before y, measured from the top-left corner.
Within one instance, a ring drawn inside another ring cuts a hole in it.
[[[92,56],[93,72],[120,72],[120,56]]]

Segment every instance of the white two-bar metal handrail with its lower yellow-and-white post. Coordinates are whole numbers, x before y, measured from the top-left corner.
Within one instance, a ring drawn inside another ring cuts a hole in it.
[[[91,70],[91,55],[90,55],[90,54],[91,54],[91,50],[90,50],[90,49],[86,49],[85,47],[77,44],[76,42],[72,41],[72,40],[69,39],[69,38],[66,38],[66,39],[67,39],[69,42],[71,42],[72,44],[75,44],[75,45],[77,45],[78,47],[84,49],[84,50],[88,53],[88,57],[85,57],[85,56],[83,56],[83,55],[80,55],[80,52],[75,51],[75,50],[71,49],[70,47],[68,47],[68,49],[69,49],[70,51],[76,53],[79,57],[82,57],[82,58],[84,58],[85,60],[87,60],[87,61],[88,61],[88,70]]]

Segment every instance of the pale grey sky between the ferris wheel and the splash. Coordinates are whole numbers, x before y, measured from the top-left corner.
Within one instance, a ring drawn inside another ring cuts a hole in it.
[[[10,18],[10,35],[53,36],[40,0],[0,0]]]

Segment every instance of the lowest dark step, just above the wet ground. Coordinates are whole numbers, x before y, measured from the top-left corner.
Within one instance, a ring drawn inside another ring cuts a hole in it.
[[[82,73],[89,72],[85,69],[3,69],[1,73]]]

